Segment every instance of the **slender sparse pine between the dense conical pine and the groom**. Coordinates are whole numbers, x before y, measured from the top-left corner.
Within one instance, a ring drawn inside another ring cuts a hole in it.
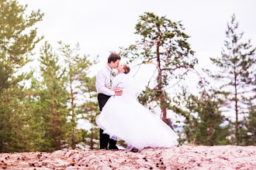
[[[76,148],[76,144],[81,141],[81,131],[77,129],[77,121],[79,112],[79,105],[81,105],[81,95],[84,93],[84,86],[89,82],[84,82],[88,79],[88,70],[92,66],[87,56],[79,54],[79,44],[74,49],[70,45],[59,42],[61,48],[61,56],[64,56],[67,69],[67,89],[70,93],[70,117],[71,117],[71,131],[68,131],[67,141],[71,148]],[[80,97],[80,100],[78,100]],[[80,104],[79,104],[80,103]]]

